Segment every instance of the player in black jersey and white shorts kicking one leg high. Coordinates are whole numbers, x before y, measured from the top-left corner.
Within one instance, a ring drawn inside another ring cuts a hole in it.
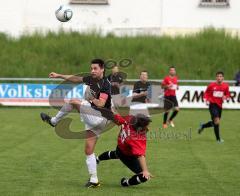
[[[86,104],[86,101],[73,101],[66,103],[55,117],[41,113],[41,118],[54,127],[77,105],[86,129],[85,154],[87,156],[86,164],[90,174],[90,179],[86,187],[98,187],[100,183],[97,177],[94,149],[99,134],[108,122],[108,119],[103,117],[102,111],[107,110],[110,112],[111,110],[111,85],[108,79],[104,77],[104,61],[101,59],[93,59],[91,61],[91,76],[80,77],[52,72],[49,74],[49,77],[62,78],[73,83],[85,83],[90,86],[92,96],[88,96],[88,101],[91,105],[89,103]]]

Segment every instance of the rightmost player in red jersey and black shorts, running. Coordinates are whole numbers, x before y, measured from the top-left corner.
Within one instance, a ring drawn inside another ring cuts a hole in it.
[[[213,82],[208,85],[205,93],[204,99],[209,105],[209,112],[211,114],[212,120],[201,124],[198,133],[200,134],[205,128],[214,127],[214,133],[217,139],[217,142],[223,142],[219,134],[219,124],[222,116],[222,104],[225,100],[230,98],[229,85],[224,80],[224,73],[216,73],[216,82]]]

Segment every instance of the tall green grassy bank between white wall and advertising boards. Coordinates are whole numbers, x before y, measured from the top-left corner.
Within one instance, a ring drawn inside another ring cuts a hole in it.
[[[232,79],[240,68],[240,40],[224,30],[205,29],[185,37],[102,37],[98,34],[36,33],[18,39],[0,34],[0,77],[47,77],[50,71],[80,73],[89,61],[130,58],[122,69],[137,78],[142,69],[150,78],[162,78],[168,65],[175,65],[182,79],[212,79],[217,70]]]

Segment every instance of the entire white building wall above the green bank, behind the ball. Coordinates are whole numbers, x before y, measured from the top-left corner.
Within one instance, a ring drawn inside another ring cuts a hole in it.
[[[67,23],[54,12],[69,0],[11,0],[0,6],[0,31],[18,36],[24,32],[100,30],[116,34],[176,34],[214,26],[240,31],[240,1],[230,8],[200,8],[199,0],[109,0],[109,5],[70,5],[74,16]]]

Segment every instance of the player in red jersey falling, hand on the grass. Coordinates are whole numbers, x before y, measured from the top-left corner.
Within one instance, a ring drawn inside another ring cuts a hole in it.
[[[120,159],[135,173],[130,179],[122,178],[122,186],[137,185],[149,180],[149,173],[145,159],[146,132],[151,120],[143,115],[122,117],[114,115],[116,124],[121,125],[118,136],[118,145],[115,151],[106,151],[97,157],[97,162],[109,159]]]

